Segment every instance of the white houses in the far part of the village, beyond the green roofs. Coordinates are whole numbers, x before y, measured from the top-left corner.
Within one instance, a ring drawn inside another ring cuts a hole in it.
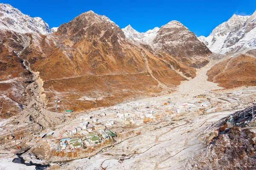
[[[201,95],[204,96],[205,95]],[[145,119],[156,120],[157,116],[163,115],[165,111],[169,113],[188,113],[200,111],[200,108],[210,106],[208,101],[201,102],[201,99],[193,99],[186,102],[171,103],[166,101],[163,105],[154,105],[145,102],[130,102],[114,107],[116,117],[127,124],[142,125]]]

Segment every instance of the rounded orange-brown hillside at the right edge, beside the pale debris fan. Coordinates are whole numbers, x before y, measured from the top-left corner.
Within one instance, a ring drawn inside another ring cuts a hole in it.
[[[253,51],[249,52],[253,54]],[[221,87],[232,88],[243,85],[256,85],[256,58],[252,55],[231,57],[214,65],[208,72],[208,81],[219,83]]]

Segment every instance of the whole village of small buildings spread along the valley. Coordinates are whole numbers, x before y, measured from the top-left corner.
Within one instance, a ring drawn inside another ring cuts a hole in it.
[[[116,105],[104,112],[81,114],[80,122],[67,128],[60,140],[61,150],[87,149],[122,133],[125,126],[140,126],[152,122],[172,120],[187,112],[197,112],[211,105],[205,94],[195,96],[189,102],[172,103],[168,99],[163,105],[147,102],[130,102]],[[184,96],[183,96],[184,97]],[[201,98],[201,99],[200,99]],[[202,99],[204,99],[202,101]],[[107,116],[108,115],[108,116]],[[112,117],[112,119],[110,119]],[[175,119],[177,121],[177,119]],[[115,131],[113,132],[111,128]],[[46,134],[41,134],[38,139]],[[75,136],[75,137],[72,137]]]

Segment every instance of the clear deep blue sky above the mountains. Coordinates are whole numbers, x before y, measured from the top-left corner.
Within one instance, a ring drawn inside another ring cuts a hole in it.
[[[2,0],[31,17],[41,17],[50,27],[73,20],[92,10],[105,15],[120,28],[130,24],[139,32],[178,20],[197,36],[212,29],[233,14],[248,15],[256,10],[256,0]]]

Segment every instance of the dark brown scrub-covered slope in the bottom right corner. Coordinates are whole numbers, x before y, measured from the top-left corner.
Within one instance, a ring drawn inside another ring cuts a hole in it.
[[[195,158],[188,169],[193,170],[254,170],[255,133],[248,129],[233,127],[219,134],[209,146]]]

